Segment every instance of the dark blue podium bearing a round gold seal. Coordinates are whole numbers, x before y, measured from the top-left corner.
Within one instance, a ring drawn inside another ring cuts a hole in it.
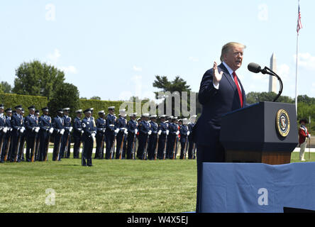
[[[222,118],[226,162],[287,164],[298,144],[294,104],[262,101]]]

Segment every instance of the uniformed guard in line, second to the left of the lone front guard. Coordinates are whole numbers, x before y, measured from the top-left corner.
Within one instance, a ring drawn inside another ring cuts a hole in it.
[[[72,124],[71,117],[69,116],[70,108],[64,108],[63,111],[63,121],[65,123],[65,133],[62,136],[62,145],[61,145],[61,157],[69,158],[70,157],[70,145],[71,145],[71,132]]]

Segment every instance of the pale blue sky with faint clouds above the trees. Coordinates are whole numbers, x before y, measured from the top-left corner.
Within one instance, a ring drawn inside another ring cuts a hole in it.
[[[238,70],[245,92],[267,92],[275,52],[283,95],[295,96],[297,0],[1,1],[0,81],[13,85],[22,62],[65,71],[80,96],[153,98],[155,75],[177,75],[199,91],[201,77],[230,41],[247,45]],[[299,94],[315,97],[315,1],[300,1]]]

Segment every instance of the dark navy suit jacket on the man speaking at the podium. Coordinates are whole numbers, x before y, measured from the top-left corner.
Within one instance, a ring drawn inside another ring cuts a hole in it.
[[[228,70],[221,64],[218,71],[223,71],[219,89],[215,89],[213,85],[213,69],[206,71],[200,84],[198,99],[202,105],[202,113],[193,129],[194,141],[199,145],[213,143],[209,128],[221,126],[224,114],[241,108],[238,89]],[[246,106],[245,91],[239,79],[238,84],[243,94],[243,106]]]

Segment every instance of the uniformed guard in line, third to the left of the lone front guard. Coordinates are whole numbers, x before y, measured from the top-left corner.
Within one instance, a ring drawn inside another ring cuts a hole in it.
[[[65,122],[62,118],[63,111],[62,109],[57,110],[57,116],[52,118],[52,128],[54,128],[54,150],[52,152],[52,161],[61,161],[61,145],[62,145],[62,136],[65,133]]]

